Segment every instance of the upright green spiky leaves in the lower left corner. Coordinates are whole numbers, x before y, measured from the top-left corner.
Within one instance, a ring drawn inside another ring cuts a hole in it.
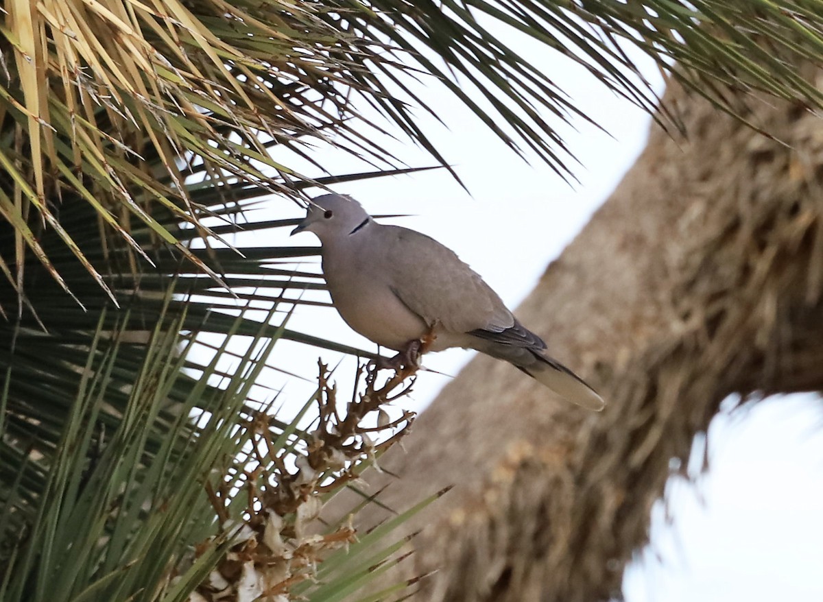
[[[137,350],[120,328],[111,336],[104,318],[82,371],[63,375],[66,407],[53,416],[55,444],[44,445],[32,419],[3,433],[4,448],[20,449],[28,461],[3,462],[2,600],[159,599],[204,530],[215,532],[203,479],[249,440],[237,428],[247,402],[243,375],[264,356],[247,354],[238,376],[218,390],[184,377],[179,320],[156,323]],[[127,386],[118,373],[135,355],[137,379]],[[183,395],[176,403],[172,391]],[[206,391],[217,403],[196,427],[189,414],[202,411]],[[48,399],[31,401],[49,407]],[[7,473],[15,470],[9,488]],[[212,564],[221,549],[225,542],[215,541],[204,550]]]

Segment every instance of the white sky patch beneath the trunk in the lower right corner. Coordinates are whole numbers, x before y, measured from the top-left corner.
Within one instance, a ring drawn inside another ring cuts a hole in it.
[[[709,470],[690,467],[694,483],[670,480],[671,518],[658,502],[652,544],[625,573],[626,600],[823,600],[821,428],[812,395],[715,418]]]

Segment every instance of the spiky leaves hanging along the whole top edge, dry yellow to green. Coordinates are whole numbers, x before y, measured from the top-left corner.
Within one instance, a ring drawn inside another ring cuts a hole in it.
[[[290,152],[318,164],[313,141],[331,141],[396,166],[374,135],[394,128],[445,166],[415,117],[415,105],[438,115],[416,78],[442,82],[512,149],[530,149],[570,177],[556,126],[597,117],[582,115],[551,73],[502,42],[505,30],[579,63],[644,109],[658,99],[627,44],[742,118],[723,86],[821,105],[821,91],[793,67],[793,57],[823,58],[816,0],[44,0],[8,2],[6,12],[0,215],[15,244],[0,271],[19,294],[30,259],[74,294],[55,249],[40,243],[50,231],[117,299],[105,248],[92,255],[63,224],[69,201],[90,206],[101,239],[128,245],[133,271],[152,259],[133,237],[142,228],[219,281],[157,217],[209,234],[209,214],[190,194],[193,174],[217,194],[257,186],[294,197],[317,182],[282,162]],[[286,151],[283,160],[272,146]]]

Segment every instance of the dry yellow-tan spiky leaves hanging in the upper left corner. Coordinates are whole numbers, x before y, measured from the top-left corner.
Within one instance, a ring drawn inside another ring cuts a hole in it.
[[[68,289],[40,247],[45,227],[109,290],[60,224],[66,190],[138,253],[132,220],[210,271],[152,216],[160,203],[207,234],[184,185],[188,166],[295,195],[291,180],[307,178],[272,160],[263,138],[295,146],[339,129],[363,138],[346,123],[356,113],[341,84],[351,88],[364,56],[379,60],[379,44],[358,49],[313,3],[46,0],[6,8],[0,215],[18,238],[2,269],[12,284],[33,253]],[[146,153],[160,161],[147,164]]]

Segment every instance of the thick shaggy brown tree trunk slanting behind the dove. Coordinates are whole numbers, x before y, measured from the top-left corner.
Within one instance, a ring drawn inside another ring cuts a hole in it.
[[[602,414],[478,357],[384,457],[400,479],[370,475],[397,509],[454,486],[408,526],[416,553],[393,579],[436,571],[416,600],[619,596],[670,461],[686,464],[720,402],[823,388],[823,121],[745,102],[774,138],[670,86],[686,134],[652,127],[518,309],[602,393]]]

